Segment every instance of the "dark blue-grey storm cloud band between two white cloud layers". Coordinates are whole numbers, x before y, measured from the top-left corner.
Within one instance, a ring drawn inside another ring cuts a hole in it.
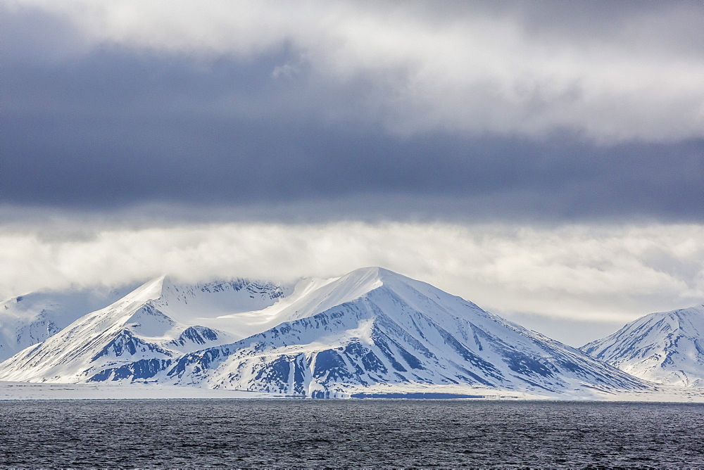
[[[702,139],[389,132],[375,103],[393,92],[393,77],[331,84],[289,42],[247,58],[86,49],[61,18],[4,15],[12,18],[0,111],[7,205],[308,201],[322,218],[701,220]]]

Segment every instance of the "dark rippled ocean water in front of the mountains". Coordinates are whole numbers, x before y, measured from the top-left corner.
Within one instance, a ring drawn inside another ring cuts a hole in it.
[[[704,405],[484,400],[0,402],[19,467],[704,466]]]

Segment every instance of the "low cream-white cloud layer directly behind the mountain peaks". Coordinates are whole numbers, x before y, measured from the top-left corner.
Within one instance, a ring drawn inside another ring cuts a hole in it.
[[[66,224],[72,232],[58,239],[0,232],[3,296],[163,273],[286,280],[379,265],[507,314],[625,322],[704,301],[699,225]]]

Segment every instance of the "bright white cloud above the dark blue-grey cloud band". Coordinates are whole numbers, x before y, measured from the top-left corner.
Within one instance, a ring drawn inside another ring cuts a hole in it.
[[[94,46],[253,59],[291,44],[310,68],[309,80],[344,87],[367,77],[377,87],[365,103],[370,115],[356,117],[376,117],[401,134],[439,128],[541,136],[568,128],[598,141],[666,141],[704,133],[704,58],[681,46],[693,21],[686,4],[641,8],[609,19],[620,22],[615,32],[581,35],[554,30],[551,18],[540,26],[555,34],[536,32],[510,9],[429,15],[427,4],[12,5],[68,18]]]

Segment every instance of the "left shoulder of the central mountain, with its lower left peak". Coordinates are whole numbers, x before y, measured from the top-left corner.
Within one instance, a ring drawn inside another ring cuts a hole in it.
[[[63,383],[150,377],[185,352],[237,338],[197,320],[265,307],[282,295],[275,284],[238,279],[184,285],[160,277],[11,357],[0,364],[0,375]]]

